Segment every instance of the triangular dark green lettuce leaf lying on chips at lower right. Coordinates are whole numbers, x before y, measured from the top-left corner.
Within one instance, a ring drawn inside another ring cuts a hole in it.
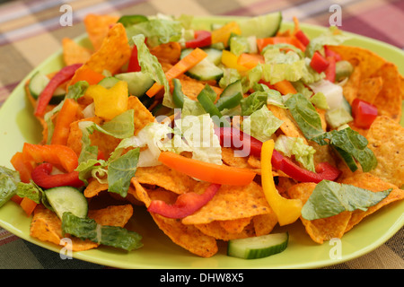
[[[302,208],[302,217],[308,221],[327,218],[344,211],[367,211],[389,196],[392,188],[373,192],[337,182],[322,180]]]

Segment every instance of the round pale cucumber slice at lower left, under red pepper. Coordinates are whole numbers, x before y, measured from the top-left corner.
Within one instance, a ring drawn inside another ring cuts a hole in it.
[[[53,187],[45,190],[48,203],[62,219],[63,213],[70,212],[78,217],[87,216],[88,204],[83,193],[75,187]]]

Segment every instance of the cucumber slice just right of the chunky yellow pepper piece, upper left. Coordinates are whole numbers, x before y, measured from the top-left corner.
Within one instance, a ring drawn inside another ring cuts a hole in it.
[[[143,96],[154,84],[154,80],[150,75],[142,72],[116,74],[115,77],[121,81],[127,82],[129,93],[136,97]]]

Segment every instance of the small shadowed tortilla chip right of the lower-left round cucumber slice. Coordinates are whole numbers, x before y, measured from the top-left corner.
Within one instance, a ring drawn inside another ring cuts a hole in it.
[[[98,224],[119,227],[124,227],[132,214],[133,207],[131,204],[110,205],[106,208],[88,211],[88,217]]]

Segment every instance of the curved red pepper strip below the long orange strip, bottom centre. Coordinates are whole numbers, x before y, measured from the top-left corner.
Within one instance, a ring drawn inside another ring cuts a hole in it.
[[[180,219],[197,212],[206,205],[216,194],[221,185],[211,184],[205,192],[198,195],[195,192],[189,192],[177,197],[174,204],[166,204],[162,200],[152,200],[147,211],[158,213],[164,217]]]

